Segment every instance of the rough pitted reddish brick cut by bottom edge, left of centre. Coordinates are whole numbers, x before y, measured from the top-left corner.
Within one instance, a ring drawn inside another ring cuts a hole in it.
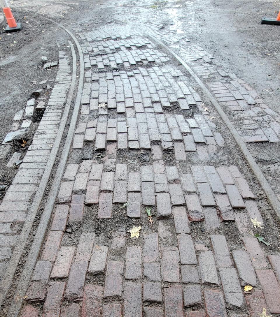
[[[102,308],[103,287],[88,284],[84,288],[80,317],[99,317]]]

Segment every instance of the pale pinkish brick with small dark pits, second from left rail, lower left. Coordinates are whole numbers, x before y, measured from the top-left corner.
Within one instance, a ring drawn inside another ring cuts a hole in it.
[[[75,247],[61,247],[57,253],[57,259],[50,274],[51,278],[63,278],[68,276],[75,250]]]

